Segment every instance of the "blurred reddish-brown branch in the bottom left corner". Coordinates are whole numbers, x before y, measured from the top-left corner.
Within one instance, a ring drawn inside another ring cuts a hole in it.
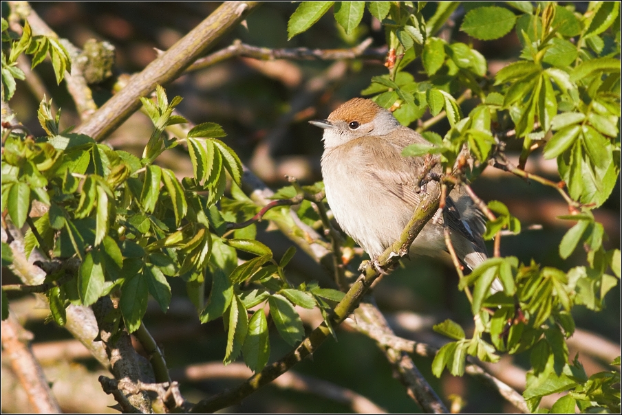
[[[5,350],[3,356],[6,354],[8,357],[13,372],[28,395],[33,412],[60,414],[61,408],[58,407],[39,362],[36,361],[28,346],[32,333],[26,331],[10,315],[1,323],[1,338],[2,348]]]

